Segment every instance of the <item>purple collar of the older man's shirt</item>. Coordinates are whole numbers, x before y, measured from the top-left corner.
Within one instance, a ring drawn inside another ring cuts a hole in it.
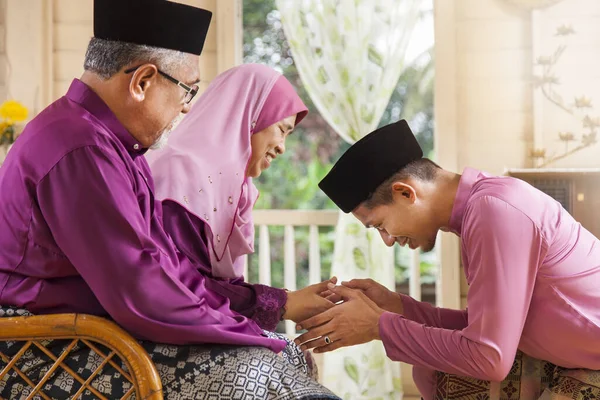
[[[79,79],[73,79],[66,97],[81,105],[102,122],[119,139],[132,158],[146,152],[146,149],[142,148],[141,143],[131,136],[127,129],[119,122],[108,105],[85,83]]]

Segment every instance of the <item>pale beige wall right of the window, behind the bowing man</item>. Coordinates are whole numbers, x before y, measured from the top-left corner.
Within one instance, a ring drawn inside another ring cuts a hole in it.
[[[540,72],[534,60],[568,44],[555,71],[558,94],[567,104],[585,95],[600,105],[600,2],[563,0],[532,13],[506,0],[436,0],[435,17],[436,149],[444,167],[502,174],[532,167],[533,148],[560,154],[559,131],[581,136],[582,116],[561,111],[534,88]],[[560,25],[572,26],[576,34],[566,41],[555,36]],[[585,112],[600,117],[600,107]],[[552,166],[599,167],[599,156],[595,145]],[[464,307],[458,240],[444,234],[440,253],[441,273],[452,277],[446,292],[461,281]]]

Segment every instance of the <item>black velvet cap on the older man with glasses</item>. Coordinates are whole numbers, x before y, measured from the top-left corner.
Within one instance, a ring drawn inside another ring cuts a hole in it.
[[[94,36],[200,55],[211,17],[167,0],[94,0]]]

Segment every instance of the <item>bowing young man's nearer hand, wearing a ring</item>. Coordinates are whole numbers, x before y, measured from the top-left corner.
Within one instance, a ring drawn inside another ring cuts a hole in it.
[[[384,310],[360,290],[332,284],[328,289],[344,303],[298,324],[308,330],[295,340],[302,350],[325,353],[380,338],[379,317]]]

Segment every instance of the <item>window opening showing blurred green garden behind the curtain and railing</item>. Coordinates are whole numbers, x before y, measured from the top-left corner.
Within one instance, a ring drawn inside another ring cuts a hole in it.
[[[433,3],[423,1],[422,23],[409,47],[410,66],[400,77],[380,126],[406,119],[425,154],[433,151]],[[269,65],[282,72],[296,87],[310,113],[286,143],[286,154],[255,181],[260,190],[258,209],[337,210],[318,188],[320,179],[349,147],[312,104],[294,65],[275,0],[244,0],[244,62]],[[334,228],[320,229],[322,278],[329,277]],[[283,287],[283,227],[271,227],[272,284]],[[308,282],[308,228],[296,229],[298,287]],[[257,253],[258,254],[258,243]],[[396,287],[408,292],[410,253],[397,246]],[[435,302],[435,252],[421,257],[423,300]],[[249,260],[249,280],[258,281],[258,257]]]

